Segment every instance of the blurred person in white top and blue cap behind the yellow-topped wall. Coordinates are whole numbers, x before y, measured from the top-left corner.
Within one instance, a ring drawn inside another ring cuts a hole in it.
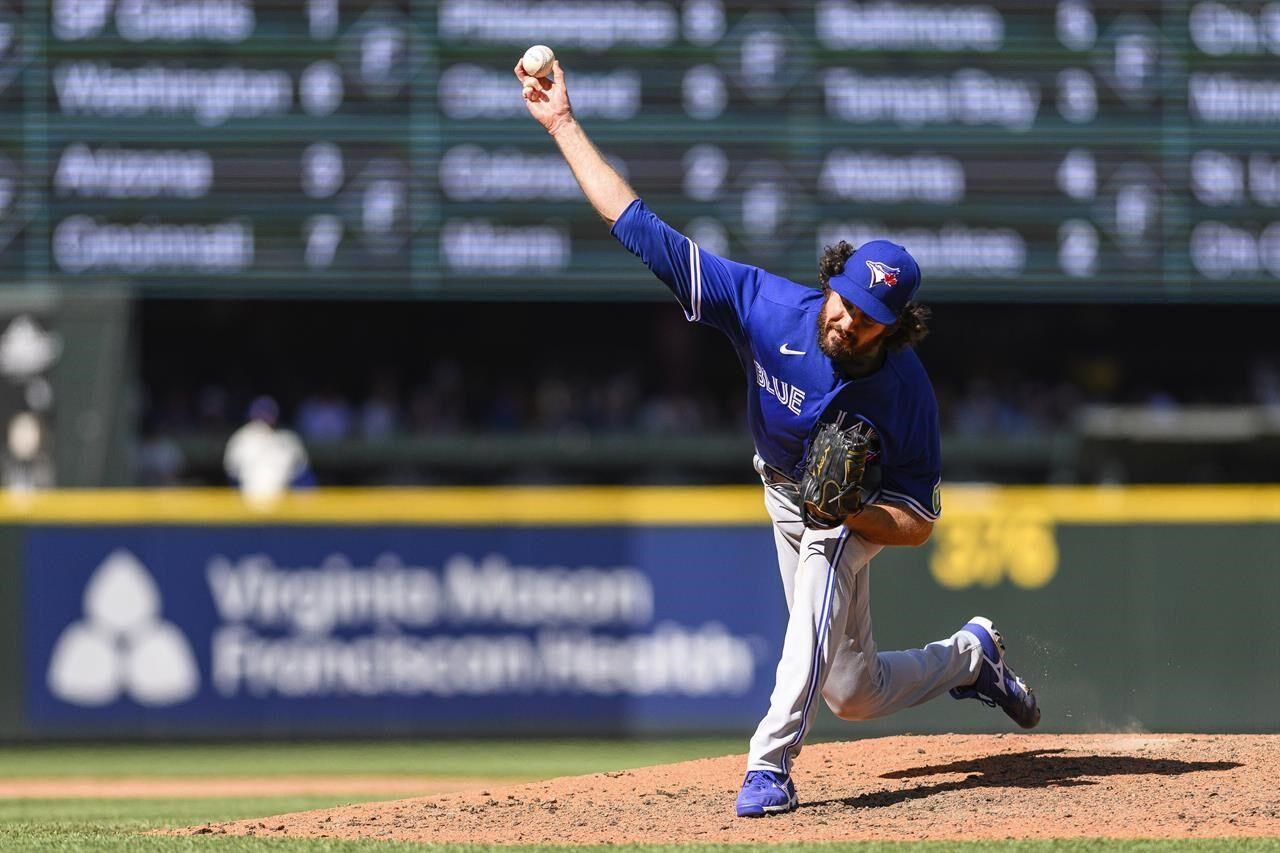
[[[315,482],[297,434],[276,429],[279,415],[274,400],[259,397],[250,406],[248,423],[232,433],[223,452],[227,475],[253,503],[270,503],[291,485]]]

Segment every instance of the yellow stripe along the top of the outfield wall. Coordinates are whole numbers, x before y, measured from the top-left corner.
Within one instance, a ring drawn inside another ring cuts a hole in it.
[[[1280,487],[950,485],[943,516],[1059,524],[1280,521]],[[0,524],[755,525],[758,487],[328,488],[270,508],[229,489],[68,489],[0,497]]]

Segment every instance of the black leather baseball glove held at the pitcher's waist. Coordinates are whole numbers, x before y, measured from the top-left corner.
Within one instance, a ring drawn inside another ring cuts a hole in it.
[[[863,510],[861,484],[873,433],[856,423],[841,428],[844,415],[822,424],[809,444],[800,480],[800,520],[813,530],[829,530]]]

